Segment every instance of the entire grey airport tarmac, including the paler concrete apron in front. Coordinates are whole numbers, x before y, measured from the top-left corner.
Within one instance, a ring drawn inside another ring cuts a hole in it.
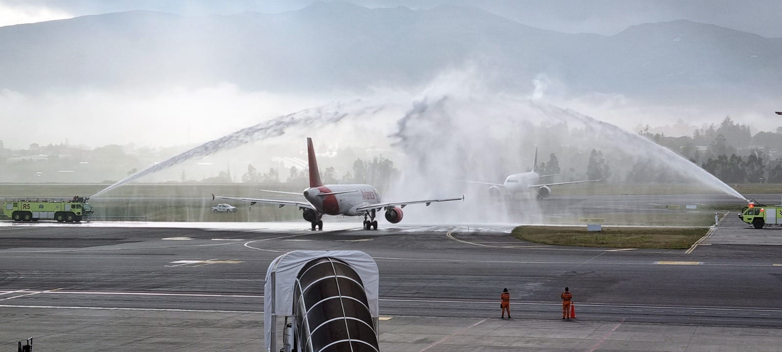
[[[782,247],[707,242],[732,222],[690,253],[541,246],[501,225],[118,225],[0,223],[0,342],[260,350],[266,268],[301,249],[375,257],[391,318],[381,321],[382,350],[777,350],[782,341],[782,302],[769,298]],[[559,319],[565,286],[576,321]],[[499,319],[504,287],[513,320]]]

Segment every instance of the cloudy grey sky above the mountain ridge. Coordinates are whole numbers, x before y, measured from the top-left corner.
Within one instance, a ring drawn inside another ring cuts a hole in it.
[[[184,15],[244,11],[279,13],[313,0],[0,0],[0,27],[74,16],[148,9]],[[693,20],[782,37],[782,2],[777,0],[350,0],[366,7],[403,5],[426,9],[459,5],[484,9],[533,27],[567,33],[616,34],[633,24]]]

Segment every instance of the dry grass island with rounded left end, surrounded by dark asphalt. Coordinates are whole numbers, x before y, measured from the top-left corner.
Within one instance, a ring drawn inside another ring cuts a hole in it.
[[[527,242],[554,246],[658,248],[686,250],[708,228],[603,228],[588,232],[587,226],[519,226],[513,236]]]

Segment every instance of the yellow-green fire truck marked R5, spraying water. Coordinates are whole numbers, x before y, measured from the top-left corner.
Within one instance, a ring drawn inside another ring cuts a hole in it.
[[[81,221],[92,214],[87,198],[6,198],[2,212],[13,221]]]

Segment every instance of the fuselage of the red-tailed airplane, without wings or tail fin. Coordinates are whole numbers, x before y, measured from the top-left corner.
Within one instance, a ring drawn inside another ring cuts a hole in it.
[[[332,192],[347,193],[318,196]],[[303,195],[317,212],[327,215],[364,215],[356,208],[380,203],[380,193],[371,185],[322,185],[305,189]]]

